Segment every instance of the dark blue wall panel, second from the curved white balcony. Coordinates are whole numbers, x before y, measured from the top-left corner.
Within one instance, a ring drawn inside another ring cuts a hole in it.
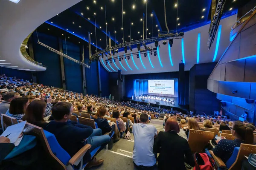
[[[64,54],[67,54],[76,60],[81,60],[81,51],[78,45],[75,45],[72,42],[67,42],[66,44],[65,40],[62,40],[62,46]],[[83,93],[82,66],[70,59],[64,58],[64,68],[66,90]]]

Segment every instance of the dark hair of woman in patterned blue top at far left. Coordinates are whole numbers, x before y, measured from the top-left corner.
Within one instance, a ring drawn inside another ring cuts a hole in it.
[[[11,114],[24,114],[27,106],[29,105],[28,98],[15,98],[12,100],[9,108]]]

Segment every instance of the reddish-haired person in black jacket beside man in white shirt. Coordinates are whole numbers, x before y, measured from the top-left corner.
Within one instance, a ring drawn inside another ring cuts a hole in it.
[[[170,118],[166,122],[165,131],[159,132],[154,142],[154,152],[159,153],[157,157],[158,169],[160,170],[186,170],[186,163],[195,166],[195,161],[186,139],[177,133],[180,127],[175,119]]]

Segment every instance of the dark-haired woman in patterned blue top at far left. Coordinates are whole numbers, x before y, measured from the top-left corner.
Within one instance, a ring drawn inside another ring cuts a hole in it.
[[[13,99],[9,110],[6,111],[6,115],[20,120],[24,116],[24,112],[28,105],[29,99],[26,97]]]

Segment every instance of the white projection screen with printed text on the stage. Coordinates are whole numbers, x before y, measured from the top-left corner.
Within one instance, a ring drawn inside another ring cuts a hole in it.
[[[174,95],[174,80],[148,80],[148,93]]]

